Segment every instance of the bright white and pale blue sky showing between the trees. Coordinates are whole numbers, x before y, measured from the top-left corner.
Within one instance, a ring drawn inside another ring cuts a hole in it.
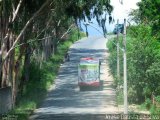
[[[114,10],[112,12],[112,17],[114,18],[115,22],[112,24],[109,24],[108,21],[106,21],[106,28],[108,32],[112,32],[114,29],[114,26],[117,22],[117,19],[119,19],[119,23],[123,23],[124,18],[128,19],[128,13],[131,11],[131,9],[136,9],[138,6],[136,5],[137,2],[140,2],[141,0],[123,0],[123,4],[120,4],[121,0],[111,0],[111,5],[113,6]],[[101,28],[98,27],[97,21],[95,19],[92,19],[93,24],[91,26],[88,26],[88,32],[91,36],[101,36],[102,34],[98,31],[101,30]],[[98,29],[96,30],[95,29]],[[82,24],[82,28],[84,29],[84,25]]]

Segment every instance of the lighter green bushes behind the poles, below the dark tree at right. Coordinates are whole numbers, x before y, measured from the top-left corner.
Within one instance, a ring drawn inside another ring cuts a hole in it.
[[[116,78],[117,53],[116,40],[112,39],[107,46],[110,51],[109,65],[115,78],[115,84],[123,85],[123,80]],[[122,47],[122,40],[120,39]],[[150,26],[130,26],[127,29],[127,81],[128,99],[130,103],[143,103],[160,93],[160,43],[152,35]],[[120,53],[120,71],[123,77],[123,57]],[[148,100],[148,99],[147,99]]]

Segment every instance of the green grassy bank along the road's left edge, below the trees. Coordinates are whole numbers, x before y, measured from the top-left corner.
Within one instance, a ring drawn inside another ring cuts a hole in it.
[[[16,107],[10,112],[19,114],[18,120],[27,120],[30,114],[39,107],[47,91],[54,84],[60,64],[69,47],[77,41],[77,32],[72,31],[71,36],[65,42],[59,44],[57,54],[52,55],[48,61],[41,65],[32,60],[30,64],[30,78],[23,90],[19,92]],[[81,37],[85,34],[81,33]]]

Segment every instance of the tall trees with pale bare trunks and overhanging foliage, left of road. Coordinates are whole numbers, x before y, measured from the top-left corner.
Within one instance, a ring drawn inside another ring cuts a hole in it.
[[[111,14],[110,0],[0,1],[0,86],[12,86],[13,104],[29,81],[28,64],[47,60],[78,19],[100,21],[104,9]]]

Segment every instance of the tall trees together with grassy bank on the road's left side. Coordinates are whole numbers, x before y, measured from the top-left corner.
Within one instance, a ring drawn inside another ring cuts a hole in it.
[[[105,31],[112,10],[108,0],[0,0],[0,88],[11,89],[15,111],[39,105],[81,21],[94,17]]]

